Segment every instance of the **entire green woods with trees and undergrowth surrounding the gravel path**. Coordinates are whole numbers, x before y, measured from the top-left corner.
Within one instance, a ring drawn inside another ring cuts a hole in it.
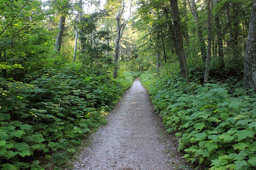
[[[140,75],[194,167],[256,167],[256,0],[0,4],[0,168],[72,167]]]

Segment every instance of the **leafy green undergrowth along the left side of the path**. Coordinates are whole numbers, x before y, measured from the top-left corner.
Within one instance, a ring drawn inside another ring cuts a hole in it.
[[[65,163],[73,146],[106,123],[106,112],[139,76],[123,72],[113,79],[78,68],[44,69],[29,84],[0,78],[0,168],[42,169],[42,158]]]

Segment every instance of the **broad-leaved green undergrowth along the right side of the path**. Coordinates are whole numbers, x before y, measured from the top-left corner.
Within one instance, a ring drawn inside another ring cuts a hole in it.
[[[211,170],[255,169],[256,95],[223,84],[188,84],[166,68],[140,79],[167,131],[177,132],[184,158]]]

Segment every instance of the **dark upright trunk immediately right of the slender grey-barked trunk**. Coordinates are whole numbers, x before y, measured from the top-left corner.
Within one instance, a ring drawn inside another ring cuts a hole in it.
[[[218,0],[213,0],[213,6],[218,4]],[[221,36],[221,27],[220,27],[220,18],[218,14],[215,14],[214,22],[216,26],[216,34],[217,34],[217,44],[218,44],[218,59],[220,68],[224,68],[224,53],[223,53],[223,40]]]

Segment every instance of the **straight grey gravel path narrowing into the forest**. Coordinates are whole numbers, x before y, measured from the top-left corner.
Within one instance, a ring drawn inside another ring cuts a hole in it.
[[[163,170],[185,165],[174,136],[164,130],[139,78],[107,120],[92,136],[92,144],[83,149],[74,169]]]

